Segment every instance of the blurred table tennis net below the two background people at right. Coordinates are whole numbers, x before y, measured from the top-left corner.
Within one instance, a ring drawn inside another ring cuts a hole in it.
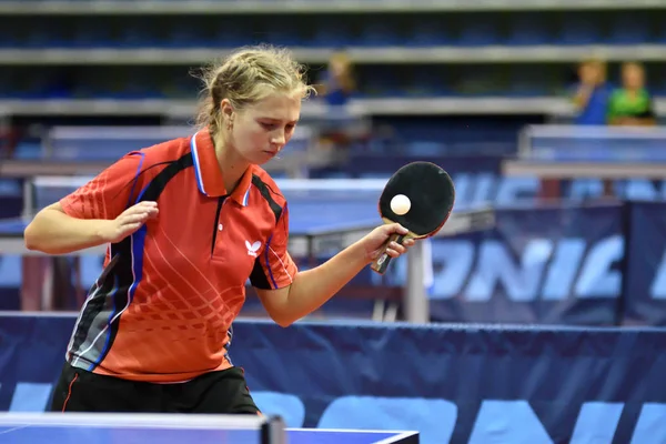
[[[529,125],[519,154],[561,162],[666,162],[666,131],[659,128]]]

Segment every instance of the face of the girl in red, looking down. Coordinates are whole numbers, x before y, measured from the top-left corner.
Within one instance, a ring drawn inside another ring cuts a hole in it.
[[[290,141],[300,115],[300,94],[273,93],[233,113],[231,143],[250,163],[266,163]]]

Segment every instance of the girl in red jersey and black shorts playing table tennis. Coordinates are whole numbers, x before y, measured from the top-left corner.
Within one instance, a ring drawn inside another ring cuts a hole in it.
[[[259,165],[294,132],[311,91],[302,72],[281,50],[235,52],[206,70],[194,135],[128,153],[26,229],[27,246],[49,254],[109,244],[52,410],[258,413],[228,353],[246,281],[287,326],[377,258],[391,234],[406,233],[381,225],[322,265],[296,269],[286,200]]]

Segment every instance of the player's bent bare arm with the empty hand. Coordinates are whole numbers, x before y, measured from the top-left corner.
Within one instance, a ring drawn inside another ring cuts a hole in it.
[[[47,254],[68,254],[78,250],[118,242],[158,214],[154,202],[140,202],[114,220],[77,219],[65,214],[60,203],[41,210],[23,232],[26,248]]]

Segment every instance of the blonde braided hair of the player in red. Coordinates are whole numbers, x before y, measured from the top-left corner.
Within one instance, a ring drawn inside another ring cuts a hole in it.
[[[242,110],[272,92],[299,93],[306,99],[314,91],[305,82],[304,67],[287,50],[263,44],[241,48],[222,62],[204,68],[198,77],[204,88],[196,125],[208,125],[211,132],[222,128],[223,99],[235,110]]]

